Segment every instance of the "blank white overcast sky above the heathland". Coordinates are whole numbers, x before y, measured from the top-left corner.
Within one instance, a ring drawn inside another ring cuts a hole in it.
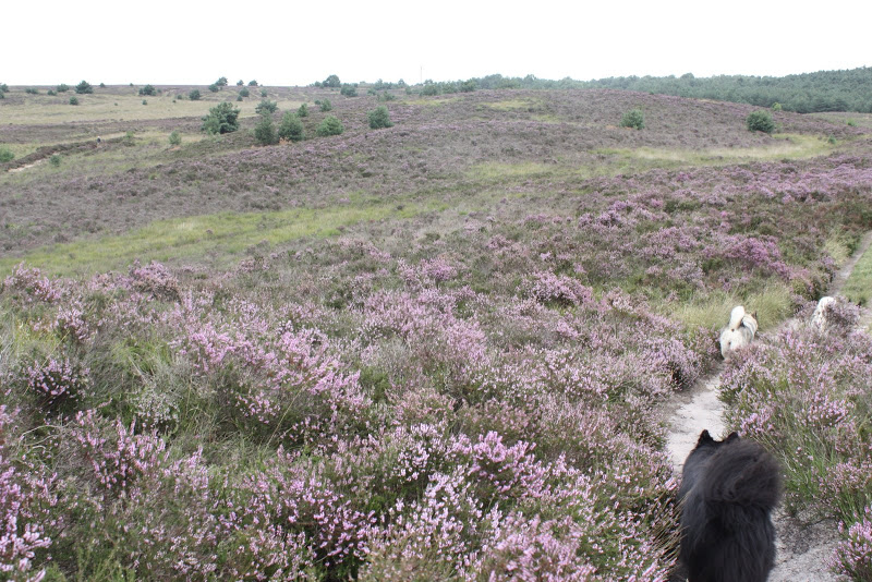
[[[782,76],[872,65],[869,0],[4,4],[0,83],[10,85]]]

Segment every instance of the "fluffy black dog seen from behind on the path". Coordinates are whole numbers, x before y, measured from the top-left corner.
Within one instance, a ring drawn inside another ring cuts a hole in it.
[[[685,461],[679,562],[689,582],[765,582],[775,563],[770,514],[782,471],[759,444],[703,431]]]

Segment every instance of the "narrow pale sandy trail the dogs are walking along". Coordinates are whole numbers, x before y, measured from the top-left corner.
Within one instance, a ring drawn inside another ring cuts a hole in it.
[[[827,294],[838,294],[853,271],[857,262],[872,244],[872,232],[868,232],[857,251],[846,260],[829,284]],[[863,314],[869,320],[870,314]],[[759,335],[758,341],[766,341],[766,337],[775,336],[787,326],[799,325],[796,318],[783,322],[775,329]],[[712,374],[700,378],[690,389],[675,395],[664,407],[664,417],[669,419],[670,428],[667,434],[667,448],[677,475],[681,474],[685,459],[693,449],[703,428],[712,435],[723,437],[726,434],[724,424],[724,403],[718,399],[718,387],[724,364],[718,363]],[[826,561],[839,542],[834,521],[821,521],[807,525],[791,518],[782,509],[773,517],[777,530],[777,557],[775,569],[770,574],[770,582],[836,582],[839,577],[829,572]]]

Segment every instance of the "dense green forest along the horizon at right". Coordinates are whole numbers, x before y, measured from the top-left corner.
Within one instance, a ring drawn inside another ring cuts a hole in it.
[[[872,112],[872,68],[848,71],[820,71],[800,75],[694,77],[691,73],[670,76],[619,76],[595,81],[564,78],[546,81],[533,75],[504,77],[488,75],[473,80],[479,88],[610,88],[697,99],[716,99],[772,107],[782,104],[787,111]]]

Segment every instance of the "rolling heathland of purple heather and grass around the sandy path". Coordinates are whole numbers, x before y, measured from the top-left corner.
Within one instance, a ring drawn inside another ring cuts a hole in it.
[[[0,101],[0,578],[666,581],[661,412],[743,304],[727,423],[872,580],[869,260],[775,331],[872,230],[872,117],[266,87],[310,114],[258,146],[259,88],[220,136],[159,88]]]

